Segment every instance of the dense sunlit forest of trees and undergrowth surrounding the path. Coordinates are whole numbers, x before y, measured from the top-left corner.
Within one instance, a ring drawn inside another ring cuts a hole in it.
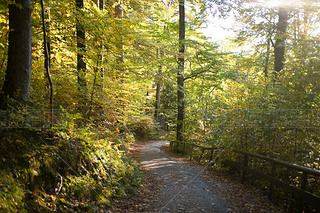
[[[212,14],[233,38],[203,36]],[[108,206],[143,178],[130,144],[163,130],[319,169],[319,18],[315,0],[1,0],[0,209]]]

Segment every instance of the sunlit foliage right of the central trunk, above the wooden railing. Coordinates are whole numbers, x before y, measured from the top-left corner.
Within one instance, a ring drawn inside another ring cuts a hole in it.
[[[209,59],[201,51],[205,54],[196,58],[198,73],[210,71],[210,61],[217,68],[187,84],[186,138],[319,169],[319,54],[313,43],[319,32],[310,21],[319,17],[310,9],[318,3],[290,7],[287,60],[275,80],[272,42],[278,19],[273,14],[278,8],[257,7],[251,1],[215,2],[222,12],[233,8],[242,27],[233,40],[235,54]]]

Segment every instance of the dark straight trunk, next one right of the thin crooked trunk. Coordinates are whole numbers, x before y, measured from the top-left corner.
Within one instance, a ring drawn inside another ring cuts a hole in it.
[[[81,14],[83,9],[83,0],[76,0],[76,9],[77,9],[77,74],[78,74],[78,84],[80,91],[86,91],[87,83],[86,83],[86,69],[87,65],[84,61],[84,53],[86,52],[85,45],[85,30],[81,23]]]

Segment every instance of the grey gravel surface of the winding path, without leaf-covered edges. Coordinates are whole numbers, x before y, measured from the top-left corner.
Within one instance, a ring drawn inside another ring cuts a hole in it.
[[[219,188],[223,183],[211,184],[204,169],[179,162],[160,147],[159,141],[142,149],[141,164],[161,180],[161,188],[151,209],[153,212],[228,212]]]

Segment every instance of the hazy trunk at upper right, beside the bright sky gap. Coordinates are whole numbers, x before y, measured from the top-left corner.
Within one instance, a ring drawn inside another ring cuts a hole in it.
[[[279,8],[278,17],[276,42],[274,45],[274,70],[276,79],[279,76],[279,72],[283,70],[284,67],[285,41],[289,19],[288,10],[282,7]]]

